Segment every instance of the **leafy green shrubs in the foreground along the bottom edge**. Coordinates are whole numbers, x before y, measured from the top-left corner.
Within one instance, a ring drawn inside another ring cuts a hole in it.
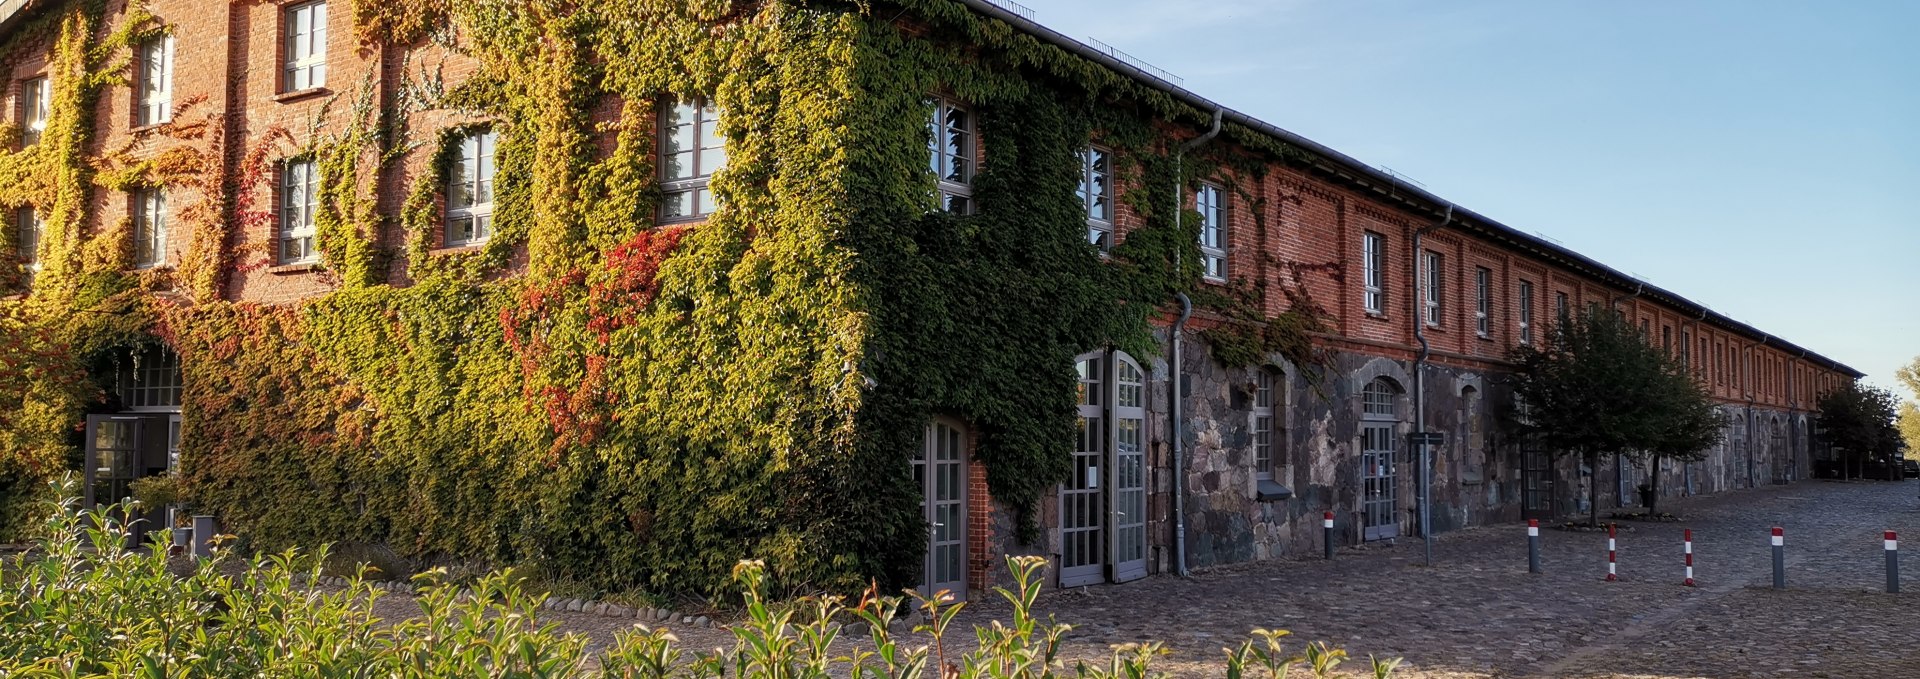
[[[165,554],[129,552],[115,508],[77,512],[65,504],[48,520],[40,549],[0,568],[0,677],[1162,677],[1152,671],[1160,644],[1129,644],[1106,662],[1060,660],[1069,625],[1033,614],[1044,560],[1010,558],[1016,587],[998,589],[1012,620],[975,627],[977,648],[947,650],[964,604],[950,597],[916,598],[931,644],[906,646],[895,616],[910,602],[870,589],[858,602],[806,597],[774,604],[760,562],[733,570],[747,593],[745,620],[730,627],[732,648],[685,652],[664,629],[636,625],[601,654],[584,635],[540,621],[541,595],[522,589],[511,570],[478,577],[470,589],[444,572],[415,577],[420,614],[384,621],[384,597],[365,570],[344,589],[305,583],[321,575],[326,550],[296,550],[238,562],[227,550],[169,572]],[[864,629],[854,639],[852,629]],[[1281,646],[1284,631],[1256,631],[1227,650],[1229,677],[1286,677],[1304,664],[1329,677],[1344,650]],[[843,639],[845,637],[845,639]],[[1386,677],[1396,662],[1375,662]]]

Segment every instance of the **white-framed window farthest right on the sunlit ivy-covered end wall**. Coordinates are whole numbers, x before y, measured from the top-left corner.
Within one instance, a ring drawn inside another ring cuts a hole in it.
[[[710,188],[726,167],[720,109],[707,100],[660,107],[660,221],[691,221],[720,207]]]

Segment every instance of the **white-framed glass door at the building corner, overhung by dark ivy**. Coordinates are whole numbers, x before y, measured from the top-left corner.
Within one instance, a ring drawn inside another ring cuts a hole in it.
[[[920,575],[920,593],[941,591],[966,600],[968,564],[968,439],[960,422],[933,418],[914,453],[914,481],[920,483],[922,510],[927,520],[927,556]]]

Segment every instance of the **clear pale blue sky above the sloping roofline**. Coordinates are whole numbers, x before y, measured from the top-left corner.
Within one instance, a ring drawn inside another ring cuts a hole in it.
[[[1920,355],[1920,2],[1021,2],[1872,384]]]

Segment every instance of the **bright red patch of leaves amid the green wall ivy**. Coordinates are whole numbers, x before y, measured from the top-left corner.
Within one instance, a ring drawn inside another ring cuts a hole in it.
[[[653,228],[634,234],[607,251],[605,269],[588,276],[576,269],[549,282],[520,292],[518,305],[501,309],[499,322],[507,343],[520,357],[522,393],[540,403],[555,439],[549,464],[572,445],[591,445],[612,422],[614,393],[609,391],[609,372],[618,357],[609,343],[626,328],[653,297],[659,295],[659,272],[666,255],[680,246],[685,228]],[[584,318],[576,301],[586,301]],[[563,366],[574,361],[557,357],[549,338],[563,324],[584,322],[589,343],[578,347],[576,374]]]

